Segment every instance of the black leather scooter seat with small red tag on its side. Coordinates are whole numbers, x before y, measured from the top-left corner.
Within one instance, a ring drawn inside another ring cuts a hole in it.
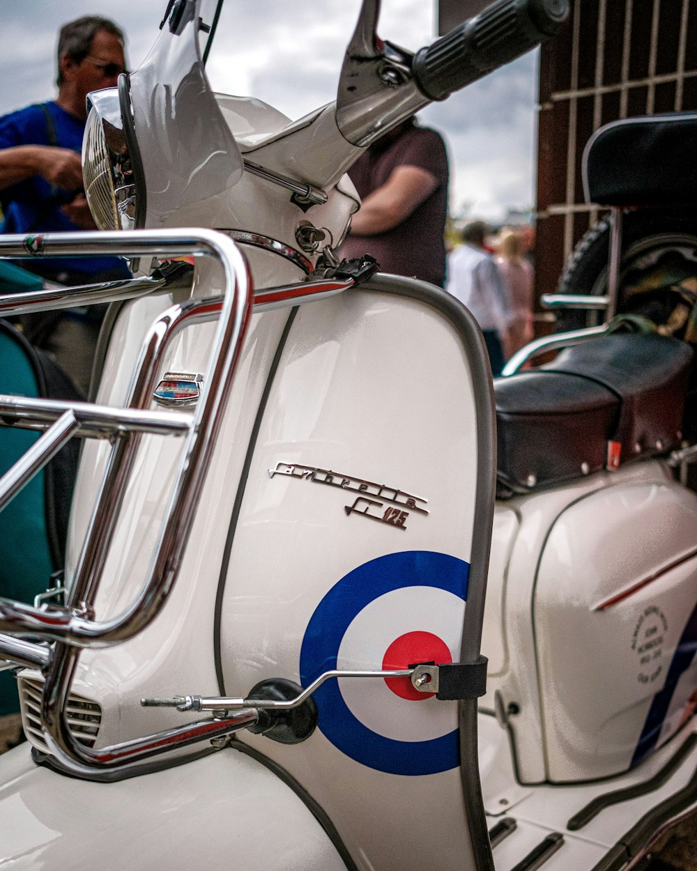
[[[497,378],[497,496],[677,447],[692,360],[676,339],[616,333],[568,348],[544,368]]]

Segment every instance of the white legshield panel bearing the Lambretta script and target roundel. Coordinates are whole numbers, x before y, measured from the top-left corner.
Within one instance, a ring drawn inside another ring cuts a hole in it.
[[[457,661],[473,538],[488,534],[474,528],[477,480],[492,471],[476,424],[462,339],[436,309],[360,292],[300,310],[232,530],[226,693]],[[457,703],[382,678],[331,679],[315,699],[301,744],[240,739],[320,802],[358,868],[473,867]]]

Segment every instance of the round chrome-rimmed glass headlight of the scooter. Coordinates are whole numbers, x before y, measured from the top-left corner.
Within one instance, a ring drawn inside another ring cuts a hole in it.
[[[136,226],[136,183],[118,90],[92,92],[87,106],[82,165],[92,217],[100,230],[132,230]]]

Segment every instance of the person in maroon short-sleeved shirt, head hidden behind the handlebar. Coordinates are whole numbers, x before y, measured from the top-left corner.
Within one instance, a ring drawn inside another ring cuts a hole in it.
[[[382,272],[443,287],[448,156],[440,134],[409,118],[363,152],[349,177],[362,205],[342,257],[369,253]]]

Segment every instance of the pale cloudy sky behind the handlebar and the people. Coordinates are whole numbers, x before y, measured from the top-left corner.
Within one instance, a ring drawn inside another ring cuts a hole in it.
[[[217,91],[252,95],[290,118],[335,98],[360,0],[227,0],[207,71]],[[166,0],[0,0],[0,114],[52,98],[58,28],[81,15],[112,17],[136,68]],[[382,0],[378,32],[416,51],[436,38],[435,3]],[[419,114],[450,155],[450,212],[499,219],[534,201],[537,55],[531,52]]]

